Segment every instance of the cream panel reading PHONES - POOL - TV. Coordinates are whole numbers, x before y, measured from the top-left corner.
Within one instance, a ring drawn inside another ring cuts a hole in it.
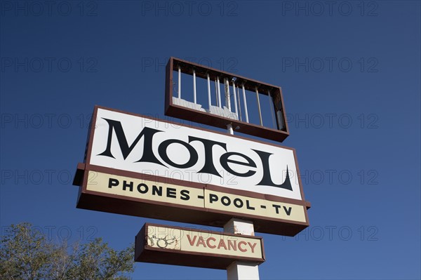
[[[306,222],[305,206],[88,171],[86,189],[151,202]]]

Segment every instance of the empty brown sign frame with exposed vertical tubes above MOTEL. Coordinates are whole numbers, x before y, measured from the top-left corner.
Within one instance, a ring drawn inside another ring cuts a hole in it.
[[[289,135],[279,86],[178,58],[166,66],[165,113],[279,142]]]

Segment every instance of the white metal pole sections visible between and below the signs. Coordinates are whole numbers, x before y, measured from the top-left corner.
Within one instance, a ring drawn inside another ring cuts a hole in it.
[[[233,84],[234,86],[234,84]],[[235,94],[235,90],[234,90]],[[231,111],[231,100],[229,98],[229,83],[225,82],[225,104],[228,109]],[[232,129],[232,124],[227,125],[227,133],[234,135]],[[231,234],[243,234],[243,235],[253,235],[254,236],[254,227],[253,222],[246,220],[241,220],[237,218],[232,218],[224,225],[224,232]],[[229,267],[227,267],[227,279],[228,280],[246,280],[253,279],[259,280],[259,266],[253,262],[232,262]]]

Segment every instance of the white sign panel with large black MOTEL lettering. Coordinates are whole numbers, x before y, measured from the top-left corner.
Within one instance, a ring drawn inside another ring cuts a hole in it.
[[[97,110],[88,164],[302,200],[293,149]]]

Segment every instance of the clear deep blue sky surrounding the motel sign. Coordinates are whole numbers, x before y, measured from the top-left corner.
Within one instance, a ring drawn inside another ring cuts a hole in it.
[[[420,279],[420,1],[0,5],[1,234],[31,222],[124,248],[145,222],[182,225],[77,209],[72,186],[94,105],[164,119],[175,56],[283,89],[311,226],[258,233],[261,279]],[[226,278],[145,263],[132,276]]]

